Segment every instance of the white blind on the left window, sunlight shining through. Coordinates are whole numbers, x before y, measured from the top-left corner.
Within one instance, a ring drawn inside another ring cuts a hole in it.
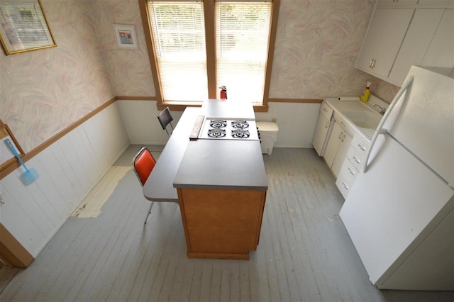
[[[208,99],[203,4],[150,1],[148,11],[163,99]]]

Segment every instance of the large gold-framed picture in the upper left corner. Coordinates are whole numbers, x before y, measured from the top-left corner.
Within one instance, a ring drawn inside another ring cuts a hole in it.
[[[0,42],[6,55],[57,46],[41,0],[0,1]]]

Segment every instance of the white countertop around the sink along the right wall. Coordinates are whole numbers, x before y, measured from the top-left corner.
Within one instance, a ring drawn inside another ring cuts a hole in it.
[[[370,99],[369,101],[376,101],[377,99],[377,97],[372,96],[372,100]],[[355,129],[356,133],[360,133],[369,142],[372,140],[372,137],[375,133],[375,128],[362,128],[356,125],[345,113],[355,112],[360,114],[361,112],[363,112],[365,115],[370,115],[381,119],[382,116],[380,115],[380,113],[377,113],[376,111],[374,111],[374,109],[371,108],[371,106],[362,103],[362,101],[339,101],[338,98],[326,98],[325,101],[333,109],[333,111],[336,112],[336,114],[340,114],[342,118],[345,119],[347,123],[349,123],[350,127]]]

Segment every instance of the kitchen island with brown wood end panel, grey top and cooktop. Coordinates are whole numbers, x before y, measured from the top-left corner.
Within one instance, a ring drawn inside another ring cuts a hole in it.
[[[194,112],[188,112],[191,118],[186,113],[177,125],[177,133],[179,128],[191,129],[194,124],[197,128]],[[249,140],[231,138],[229,133],[223,138],[179,138],[184,140],[185,150],[177,160],[179,167],[172,183],[182,214],[187,257],[249,259],[249,251],[258,246],[267,191],[260,140],[255,139],[258,134],[253,106],[208,100],[199,116],[247,120],[251,136]]]

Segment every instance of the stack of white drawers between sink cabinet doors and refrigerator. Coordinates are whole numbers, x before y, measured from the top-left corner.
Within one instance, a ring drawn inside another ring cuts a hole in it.
[[[336,180],[336,186],[344,198],[347,198],[358,173],[362,169],[369,147],[370,142],[360,134],[355,134],[353,140],[351,140],[347,156],[343,160],[338,179]]]

